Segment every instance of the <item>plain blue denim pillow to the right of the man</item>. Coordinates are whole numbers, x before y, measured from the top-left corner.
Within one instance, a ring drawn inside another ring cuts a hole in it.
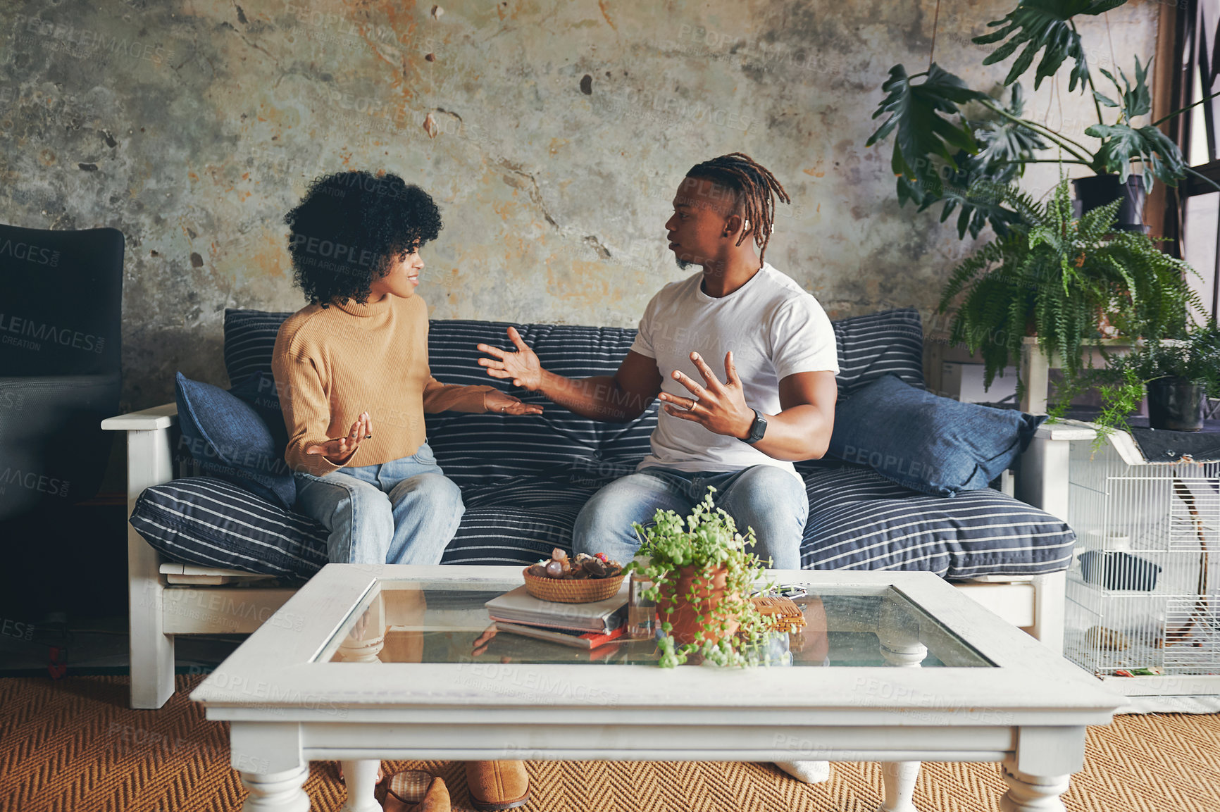
[[[986,488],[1047,419],[960,404],[883,376],[834,408],[828,457],[933,496]]]

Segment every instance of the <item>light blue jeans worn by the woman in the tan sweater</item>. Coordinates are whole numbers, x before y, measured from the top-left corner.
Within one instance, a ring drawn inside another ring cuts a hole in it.
[[[401,460],[295,478],[296,511],[331,532],[332,563],[440,563],[466,512],[427,443]]]

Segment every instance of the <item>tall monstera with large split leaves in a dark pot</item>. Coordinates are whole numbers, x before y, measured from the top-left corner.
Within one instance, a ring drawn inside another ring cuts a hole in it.
[[[1122,200],[1127,219],[1120,217],[1119,228],[1144,230],[1142,196],[1152,188],[1153,178],[1170,187],[1176,187],[1186,173],[1207,180],[1186,166],[1181,150],[1158,126],[1220,94],[1211,94],[1150,124],[1136,127],[1135,119],[1152,110],[1148,65],[1136,59],[1133,82],[1121,68],[1118,77],[1103,68],[1099,73],[1113,84],[1114,91],[1105,88],[1107,93],[1102,93],[1096,87],[1074,20],[1082,15],[1103,13],[1125,1],[1021,0],[1003,20],[989,22],[988,26],[996,30],[975,37],[972,41],[980,45],[1002,44],[982,60],[983,65],[1000,62],[1021,50],[1003,82],[1004,87],[1011,87],[1008,105],[966,87],[959,77],[935,62],[928,65],[927,71],[911,74],[903,65],[893,66],[889,78],[881,85],[886,96],[872,115],[874,118],[889,117],[865,145],[871,146],[894,134],[891,166],[897,176],[899,205],[911,200],[922,211],[942,202],[941,222],[959,210],[959,238],[964,238],[967,230],[977,238],[986,224],[1003,235],[1020,218],[1020,212],[1005,206],[1004,195],[997,190],[1015,183],[1028,163],[1075,163],[1098,176],[1096,180],[1081,179],[1077,183],[1082,202],[1097,206]],[[1042,59],[1037,63],[1035,89],[1043,79],[1058,73],[1064,63],[1070,63],[1069,91],[1077,85],[1082,93],[1091,91],[1097,123],[1086,128],[1085,134],[1099,139],[1096,148],[1022,117],[1021,90],[1016,80],[1033,66],[1039,51]],[[974,105],[977,112],[967,115],[964,110],[967,105]],[[1114,111],[1110,119],[1103,107]],[[1037,157],[1039,150],[1048,148],[1057,148],[1060,157]],[[1143,177],[1128,184],[1132,161],[1142,165]],[[1098,194],[1092,188],[1097,185],[1109,191]],[[1125,193],[1128,187],[1132,188],[1131,195]],[[1220,185],[1216,188],[1220,189]],[[1107,194],[1110,196],[1107,198]],[[1136,194],[1138,200],[1132,196]]]

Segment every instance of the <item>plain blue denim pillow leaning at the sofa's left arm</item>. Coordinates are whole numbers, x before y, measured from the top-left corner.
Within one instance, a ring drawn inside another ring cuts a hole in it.
[[[201,473],[233,483],[284,508],[296,502],[296,482],[283,449],[259,413],[220,386],[176,376],[178,426]]]

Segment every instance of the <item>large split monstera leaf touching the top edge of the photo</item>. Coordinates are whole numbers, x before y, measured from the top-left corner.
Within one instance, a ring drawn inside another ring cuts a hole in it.
[[[1005,40],[983,60],[983,65],[1002,62],[1019,48],[1025,46],[1009,68],[1004,84],[1011,84],[1020,78],[1030,69],[1038,51],[1042,51],[1042,60],[1033,77],[1035,90],[1044,78],[1054,76],[1069,57],[1075,65],[1068,79],[1068,90],[1075,90],[1077,83],[1083,90],[1089,78],[1088,62],[1071,18],[1076,15],[1096,16],[1125,2],[1126,0],[1021,0],[1003,20],[987,23],[996,30],[975,37],[971,41],[989,45]]]

